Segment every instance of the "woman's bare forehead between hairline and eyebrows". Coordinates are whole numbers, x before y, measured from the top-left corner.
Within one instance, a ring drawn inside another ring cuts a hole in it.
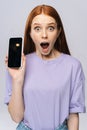
[[[49,24],[49,23],[56,23],[55,19],[49,15],[45,15],[45,14],[40,14],[40,15],[37,15],[33,18],[32,20],[32,24],[42,24],[42,23],[45,23],[45,24]]]

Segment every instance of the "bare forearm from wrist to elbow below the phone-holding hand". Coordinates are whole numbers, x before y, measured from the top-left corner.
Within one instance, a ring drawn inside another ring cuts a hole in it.
[[[15,122],[20,122],[24,115],[24,103],[22,97],[22,86],[13,81],[12,95],[8,104],[8,111]]]

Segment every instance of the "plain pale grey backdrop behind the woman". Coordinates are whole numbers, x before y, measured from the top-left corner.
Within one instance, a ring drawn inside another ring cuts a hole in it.
[[[38,4],[49,4],[57,9],[63,21],[67,42],[74,57],[82,63],[86,77],[87,106],[87,1],[86,0],[0,0],[0,130],[15,130],[4,104],[5,65],[8,40],[24,36],[24,27],[31,9]],[[87,129],[87,114],[80,114],[80,129]]]

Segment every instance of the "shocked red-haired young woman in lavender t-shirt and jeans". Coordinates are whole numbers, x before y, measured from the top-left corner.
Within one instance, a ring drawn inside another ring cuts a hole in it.
[[[19,123],[17,130],[79,130],[79,113],[85,112],[84,73],[70,56],[53,7],[40,5],[29,14],[22,67],[8,68],[6,85],[5,103]]]

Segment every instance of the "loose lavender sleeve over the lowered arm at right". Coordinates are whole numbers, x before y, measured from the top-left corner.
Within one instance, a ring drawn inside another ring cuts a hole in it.
[[[85,113],[85,76],[80,62],[73,67],[72,77],[70,113]]]

